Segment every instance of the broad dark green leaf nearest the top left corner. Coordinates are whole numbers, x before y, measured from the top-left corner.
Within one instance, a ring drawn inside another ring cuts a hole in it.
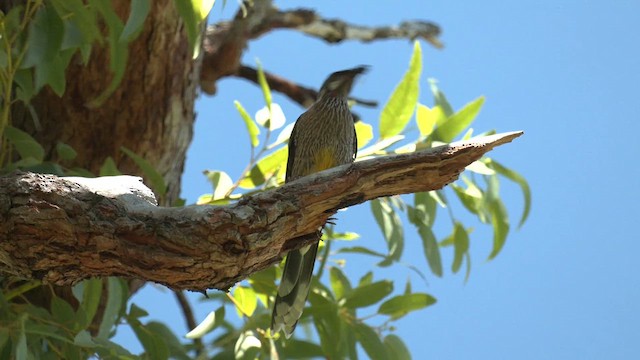
[[[58,55],[64,38],[64,24],[51,5],[41,6],[29,23],[29,40],[22,68],[49,62]]]

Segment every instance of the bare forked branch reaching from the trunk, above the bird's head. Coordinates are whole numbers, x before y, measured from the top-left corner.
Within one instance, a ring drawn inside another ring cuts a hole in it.
[[[367,27],[338,19],[324,19],[309,9],[281,11],[271,0],[256,0],[253,1],[253,6],[246,8],[246,13],[240,9],[233,20],[223,21],[206,29],[200,72],[202,90],[213,95],[216,93],[216,82],[220,78],[234,75],[245,77],[246,69],[242,69],[240,59],[247,44],[250,40],[275,29],[300,31],[329,43],[405,38],[424,39],[437,48],[442,47],[438,40],[440,28],[431,22],[412,21],[403,22],[398,26]],[[271,82],[269,84],[271,85]],[[274,90],[283,92],[299,104],[308,105],[308,94],[305,94],[307,89],[282,86]]]

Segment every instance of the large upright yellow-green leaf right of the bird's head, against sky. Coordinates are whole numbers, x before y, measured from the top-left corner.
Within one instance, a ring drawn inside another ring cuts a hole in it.
[[[380,138],[398,135],[407,126],[418,102],[422,49],[420,42],[413,43],[413,55],[409,69],[395,88],[380,114]]]

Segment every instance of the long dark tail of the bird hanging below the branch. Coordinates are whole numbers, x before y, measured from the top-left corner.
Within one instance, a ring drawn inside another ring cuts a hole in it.
[[[317,251],[318,243],[314,243],[299,250],[293,250],[287,255],[276,303],[273,306],[272,334],[282,329],[288,339],[296,328],[309,296]]]

